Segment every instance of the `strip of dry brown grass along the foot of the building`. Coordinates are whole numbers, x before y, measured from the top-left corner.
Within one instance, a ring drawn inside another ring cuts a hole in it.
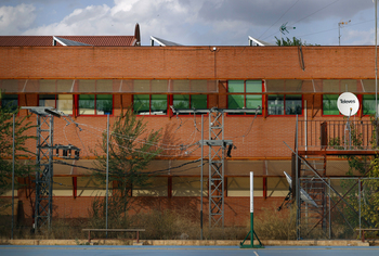
[[[293,212],[293,210],[292,210]],[[263,209],[260,218],[254,218],[254,231],[260,240],[296,240],[295,215],[290,209],[276,212],[274,208]],[[174,210],[151,210],[139,213],[134,216],[108,218],[108,228],[144,228],[146,231],[140,234],[144,240],[198,240],[200,239],[199,219],[193,218],[192,212]],[[250,230],[250,219],[246,219],[245,227],[208,227],[208,218],[205,218],[202,238],[205,240],[244,240]],[[0,236],[11,236],[10,222],[0,226]],[[14,239],[71,239],[80,240],[87,238],[87,228],[105,228],[105,218],[95,215],[90,219],[53,219],[52,229],[41,229],[38,233],[30,232],[30,227],[15,227]],[[306,229],[302,227],[302,234]],[[335,228],[334,233],[339,238],[345,238],[344,229]],[[104,238],[104,233],[94,233],[93,238]],[[131,233],[112,233],[109,239],[130,239]],[[324,239],[325,233],[318,229],[312,230],[309,234],[312,239]],[[337,236],[336,236],[337,238]],[[305,238],[304,238],[305,239]]]

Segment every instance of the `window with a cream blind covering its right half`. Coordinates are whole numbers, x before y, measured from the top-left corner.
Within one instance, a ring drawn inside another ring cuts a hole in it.
[[[67,115],[73,115],[71,94],[40,94],[39,106],[52,106]]]

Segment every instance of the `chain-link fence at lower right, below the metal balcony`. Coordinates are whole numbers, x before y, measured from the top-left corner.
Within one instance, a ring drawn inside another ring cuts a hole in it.
[[[379,178],[301,178],[300,239],[357,239],[379,226]]]

